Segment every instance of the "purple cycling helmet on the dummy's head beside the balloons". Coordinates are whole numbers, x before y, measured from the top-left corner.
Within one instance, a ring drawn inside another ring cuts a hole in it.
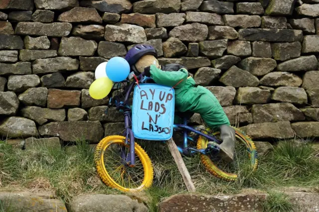
[[[153,46],[147,44],[138,44],[128,51],[125,59],[128,61],[130,66],[133,66],[141,59],[141,57],[145,55],[153,55],[156,58],[158,57],[157,51]]]

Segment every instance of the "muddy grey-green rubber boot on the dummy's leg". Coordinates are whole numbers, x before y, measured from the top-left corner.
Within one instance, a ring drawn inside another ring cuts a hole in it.
[[[228,125],[220,126],[220,138],[223,141],[219,146],[219,156],[226,162],[234,161],[235,141],[236,141],[235,129]]]

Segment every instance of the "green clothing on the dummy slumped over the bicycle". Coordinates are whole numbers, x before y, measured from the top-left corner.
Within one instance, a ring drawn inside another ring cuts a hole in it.
[[[185,68],[162,71],[152,65],[150,73],[155,83],[174,88],[175,108],[178,111],[199,113],[211,128],[223,124],[230,125],[228,117],[216,97],[208,89],[195,86],[194,79],[189,76]]]

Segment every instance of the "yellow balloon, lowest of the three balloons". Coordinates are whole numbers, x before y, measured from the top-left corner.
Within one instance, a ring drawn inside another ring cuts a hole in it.
[[[101,100],[108,96],[108,94],[111,92],[112,87],[113,82],[107,77],[102,77],[95,80],[91,84],[89,94],[93,99]]]

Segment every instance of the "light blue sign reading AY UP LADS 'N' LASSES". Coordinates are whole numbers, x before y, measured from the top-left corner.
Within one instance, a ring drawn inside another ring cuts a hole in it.
[[[168,140],[173,134],[174,89],[157,84],[136,86],[133,96],[132,130],[145,140]]]

